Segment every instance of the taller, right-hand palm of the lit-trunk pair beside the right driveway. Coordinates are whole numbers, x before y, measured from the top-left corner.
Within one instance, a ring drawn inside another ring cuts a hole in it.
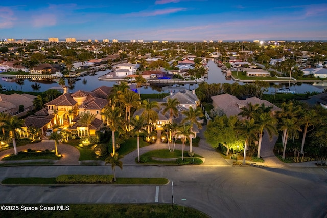
[[[269,111],[269,113],[256,114],[254,120],[259,127],[258,154],[256,155],[256,157],[260,158],[263,131],[267,131],[269,139],[271,140],[274,134],[278,134],[277,128],[275,126],[275,124],[277,123],[277,119],[272,117],[272,112]]]

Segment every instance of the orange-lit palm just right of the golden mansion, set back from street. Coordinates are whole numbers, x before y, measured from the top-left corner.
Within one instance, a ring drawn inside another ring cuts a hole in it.
[[[137,108],[140,105],[139,96],[135,92],[127,89],[122,92],[118,98],[122,105],[125,107],[126,130],[129,132],[131,109]]]

